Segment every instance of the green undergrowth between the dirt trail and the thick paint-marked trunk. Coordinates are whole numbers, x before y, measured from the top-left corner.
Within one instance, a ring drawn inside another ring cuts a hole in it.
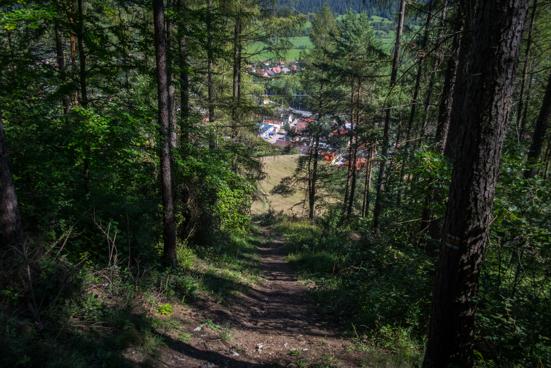
[[[366,352],[365,364],[419,364],[428,325],[430,259],[411,244],[375,241],[360,220],[350,226],[334,221],[336,214],[315,221],[276,217],[271,222],[285,237],[289,264],[299,279],[315,285],[312,305],[322,308],[328,322],[343,326],[354,349]]]

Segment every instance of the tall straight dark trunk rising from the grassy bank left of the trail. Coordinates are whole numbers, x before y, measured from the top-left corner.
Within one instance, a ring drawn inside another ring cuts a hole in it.
[[[166,66],[165,9],[163,0],[153,0],[155,28],[155,61],[157,67],[157,98],[159,105],[161,191],[163,192],[164,256],[171,262],[176,258],[176,223],[172,199],[172,171],[170,165],[169,86]]]

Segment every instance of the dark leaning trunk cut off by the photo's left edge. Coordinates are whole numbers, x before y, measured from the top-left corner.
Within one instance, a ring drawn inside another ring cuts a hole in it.
[[[19,206],[12,170],[9,168],[8,148],[2,124],[2,107],[0,106],[0,230],[2,246],[16,241],[23,234],[19,218]]]

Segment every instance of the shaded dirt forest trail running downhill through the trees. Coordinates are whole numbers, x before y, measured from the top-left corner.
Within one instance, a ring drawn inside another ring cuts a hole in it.
[[[171,340],[165,340],[170,348],[149,354],[155,367],[359,366],[363,354],[350,351],[352,345],[339,335],[339,326],[326,322],[319,308],[309,304],[307,285],[294,278],[280,249],[283,239],[271,227],[263,231],[264,241],[258,249],[264,284],[253,286],[251,292],[228,307],[204,303],[195,310],[174,313],[172,318],[181,316],[191,322],[178,333],[188,332],[192,337],[182,342],[165,336]],[[194,330],[207,318],[218,324],[230,322],[233,339],[220,340],[216,331],[204,325],[200,331]],[[140,355],[134,359],[132,354],[126,356],[141,366],[141,360],[147,357]]]

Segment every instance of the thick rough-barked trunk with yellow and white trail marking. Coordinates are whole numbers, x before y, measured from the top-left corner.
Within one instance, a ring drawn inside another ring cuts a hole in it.
[[[473,365],[478,276],[506,132],[528,0],[479,0],[444,236],[431,303],[425,367]],[[454,99],[454,104],[456,100]]]

